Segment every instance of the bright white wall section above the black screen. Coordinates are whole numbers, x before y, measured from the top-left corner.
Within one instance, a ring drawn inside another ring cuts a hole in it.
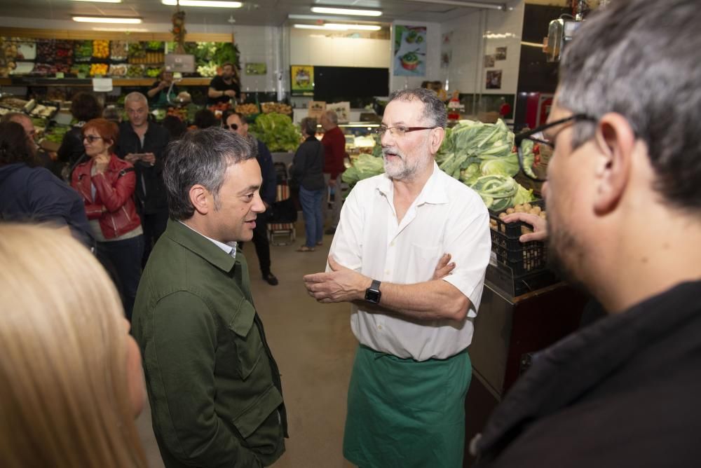
[[[313,29],[290,29],[290,64],[319,67],[387,68],[391,42],[325,36]]]

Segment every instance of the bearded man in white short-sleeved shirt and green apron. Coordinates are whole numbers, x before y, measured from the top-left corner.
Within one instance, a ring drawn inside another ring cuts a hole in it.
[[[353,188],[326,273],[304,277],[317,301],[353,304],[343,455],[360,467],[462,466],[466,348],[491,240],[479,195],[435,164],[446,121],[433,92],[390,97],[385,174]]]

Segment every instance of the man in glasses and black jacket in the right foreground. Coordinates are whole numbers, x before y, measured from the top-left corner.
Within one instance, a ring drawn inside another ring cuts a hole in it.
[[[610,313],[536,355],[470,444],[479,467],[701,458],[700,22],[695,0],[611,2],[564,51],[534,129],[548,256]]]

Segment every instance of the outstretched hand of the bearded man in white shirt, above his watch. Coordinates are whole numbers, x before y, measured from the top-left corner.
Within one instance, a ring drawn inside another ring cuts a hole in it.
[[[304,276],[307,293],[320,303],[351,302],[365,298],[365,289],[372,280],[369,277],[340,265],[329,255],[329,273]]]

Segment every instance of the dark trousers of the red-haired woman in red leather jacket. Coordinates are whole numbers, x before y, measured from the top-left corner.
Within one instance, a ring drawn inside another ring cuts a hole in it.
[[[141,259],[144,255],[144,236],[97,242],[97,259],[115,280],[122,298],[124,313],[131,322],[136,291],[141,280]]]

